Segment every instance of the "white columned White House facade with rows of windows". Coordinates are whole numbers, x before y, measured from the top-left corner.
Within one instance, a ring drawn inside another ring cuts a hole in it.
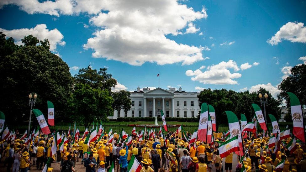
[[[198,102],[198,92],[182,91],[170,88],[164,90],[156,88],[137,88],[131,92],[129,97],[132,101],[131,109],[125,113],[124,110],[114,111],[113,117],[161,117],[162,110],[166,117],[196,117],[201,111]]]

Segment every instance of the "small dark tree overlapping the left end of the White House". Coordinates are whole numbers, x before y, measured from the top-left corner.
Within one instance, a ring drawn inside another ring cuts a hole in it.
[[[129,98],[130,95],[131,93],[125,90],[112,92],[112,96],[114,99],[113,109],[117,111],[124,109],[124,112],[128,112],[131,109],[132,104],[132,101]]]

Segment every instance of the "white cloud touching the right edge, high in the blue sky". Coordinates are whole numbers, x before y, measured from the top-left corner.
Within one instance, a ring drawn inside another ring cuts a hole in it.
[[[304,23],[288,22],[277,33],[267,40],[271,45],[277,45],[282,40],[306,43],[306,27]]]

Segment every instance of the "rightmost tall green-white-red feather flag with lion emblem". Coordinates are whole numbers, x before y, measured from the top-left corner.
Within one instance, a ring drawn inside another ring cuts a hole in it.
[[[303,128],[303,112],[298,97],[292,92],[287,92],[290,98],[291,117],[293,121],[293,135],[305,143],[305,129]]]

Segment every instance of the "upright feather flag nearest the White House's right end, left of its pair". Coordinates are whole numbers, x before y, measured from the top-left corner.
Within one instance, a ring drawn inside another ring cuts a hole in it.
[[[208,105],[207,103],[202,103],[199,128],[198,128],[199,140],[206,141],[207,127],[208,127]]]

